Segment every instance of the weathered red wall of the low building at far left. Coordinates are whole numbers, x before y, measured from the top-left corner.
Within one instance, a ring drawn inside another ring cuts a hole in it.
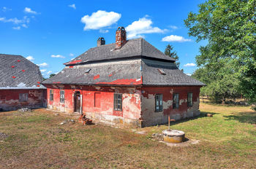
[[[20,102],[19,94],[28,93],[28,101]],[[35,109],[46,106],[46,90],[0,90],[0,111],[13,111],[21,107]]]

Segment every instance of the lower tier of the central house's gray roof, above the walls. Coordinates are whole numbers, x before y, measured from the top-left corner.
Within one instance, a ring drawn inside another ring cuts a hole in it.
[[[89,68],[91,71],[86,74]],[[158,68],[165,71],[165,75],[160,74]],[[43,84],[205,85],[178,70],[174,63],[148,59],[66,66]]]

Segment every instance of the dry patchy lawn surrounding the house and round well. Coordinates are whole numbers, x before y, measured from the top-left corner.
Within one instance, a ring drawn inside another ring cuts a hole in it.
[[[200,117],[171,129],[198,140],[166,146],[149,139],[166,125],[144,127],[145,135],[105,125],[59,125],[75,117],[46,109],[0,113],[0,168],[256,168],[256,112],[246,106],[200,103]],[[214,117],[205,117],[211,112]],[[0,138],[1,139],[1,138]]]

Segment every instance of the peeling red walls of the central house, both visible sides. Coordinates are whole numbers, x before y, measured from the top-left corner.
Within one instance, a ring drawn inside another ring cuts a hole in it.
[[[129,82],[133,82],[132,80]],[[110,124],[143,127],[165,123],[168,115],[172,119],[183,119],[199,114],[200,87],[45,86],[48,88],[48,108],[69,113],[81,110],[86,117]],[[53,101],[50,101],[50,90],[53,90]],[[61,90],[64,90],[64,103],[60,101]],[[80,93],[80,110],[75,110],[77,92]],[[114,110],[114,93],[122,94],[121,111]],[[173,93],[179,94],[178,109],[173,109]],[[193,93],[191,107],[187,105],[187,93]],[[159,112],[155,112],[156,94],[163,95],[163,110]]]

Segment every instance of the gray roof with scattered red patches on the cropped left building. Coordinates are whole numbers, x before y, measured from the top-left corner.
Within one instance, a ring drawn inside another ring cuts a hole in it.
[[[45,88],[39,67],[20,55],[0,54],[0,89]],[[39,86],[37,86],[39,85]]]

